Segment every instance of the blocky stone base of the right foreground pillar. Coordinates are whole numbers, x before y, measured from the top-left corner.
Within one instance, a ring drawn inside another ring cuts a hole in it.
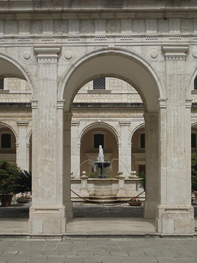
[[[157,206],[156,231],[163,234],[194,233],[193,207]]]

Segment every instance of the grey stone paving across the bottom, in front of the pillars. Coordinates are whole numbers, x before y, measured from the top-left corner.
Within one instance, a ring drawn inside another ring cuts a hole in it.
[[[197,262],[197,238],[0,240],[0,263]]]

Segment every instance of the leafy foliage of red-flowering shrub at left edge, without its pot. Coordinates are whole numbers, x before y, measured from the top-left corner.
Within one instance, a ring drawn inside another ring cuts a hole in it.
[[[15,180],[19,172],[22,172],[17,164],[11,165],[8,161],[0,161],[0,194],[9,195],[13,193]]]

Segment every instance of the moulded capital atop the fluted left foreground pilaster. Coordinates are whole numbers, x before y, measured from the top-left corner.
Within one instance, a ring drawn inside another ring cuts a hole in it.
[[[34,50],[38,55],[36,56],[37,58],[58,58],[57,53],[60,52],[62,46],[35,46]]]

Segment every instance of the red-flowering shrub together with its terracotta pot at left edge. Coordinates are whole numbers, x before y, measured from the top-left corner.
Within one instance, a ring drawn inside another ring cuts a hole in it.
[[[17,164],[10,164],[8,161],[0,161],[0,200],[3,207],[11,206],[13,189],[18,172],[21,172]]]

